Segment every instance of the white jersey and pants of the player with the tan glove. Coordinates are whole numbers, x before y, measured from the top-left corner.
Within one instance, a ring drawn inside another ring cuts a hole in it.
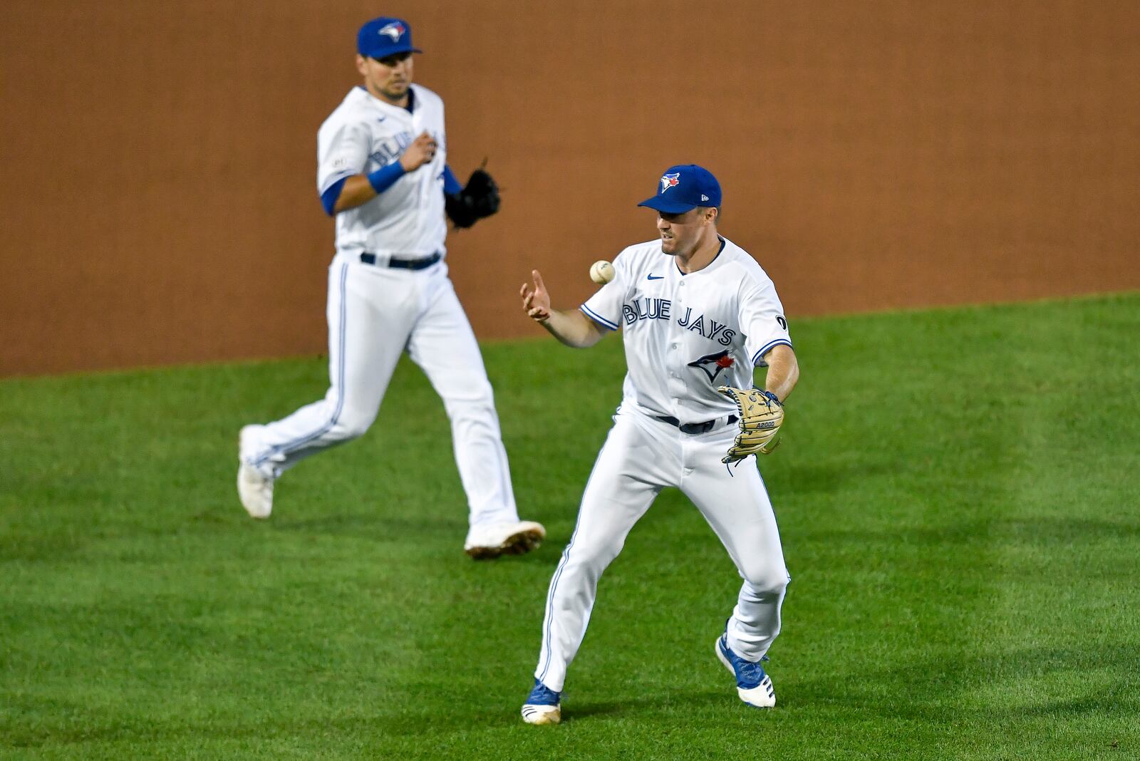
[[[625,328],[629,371],[546,594],[535,679],[547,689],[562,690],[598,578],[666,488],[692,500],[743,578],[725,624],[727,647],[757,663],[780,633],[789,578],[775,513],[756,460],[732,468],[720,461],[739,428],[726,419],[736,406],[716,388],[750,386],[765,352],[791,339],[772,280],[743,249],[720,240],[716,259],[689,275],[660,240],[629,246],[613,261],[613,280],[581,305],[598,324]],[[661,417],[719,418],[719,425],[686,433]]]

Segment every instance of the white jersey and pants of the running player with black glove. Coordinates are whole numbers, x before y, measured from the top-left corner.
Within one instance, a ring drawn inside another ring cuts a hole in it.
[[[378,196],[336,214],[337,254],[328,268],[328,377],[325,398],[242,439],[242,459],[280,476],[304,458],[360,436],[376,419],[406,352],[443,399],[455,460],[475,526],[515,524],[511,472],[495,396],[446,262],[392,268],[390,256],[446,253],[443,103],[413,84],[414,113],[353,88],[320,126],[317,187],[398,161],[423,131],[434,159]],[[377,254],[372,261],[361,253]]]

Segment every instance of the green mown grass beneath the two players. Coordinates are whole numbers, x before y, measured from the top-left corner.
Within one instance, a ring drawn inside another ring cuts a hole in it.
[[[620,339],[484,347],[524,557],[474,563],[442,406],[246,517],[236,436],[321,359],[0,382],[3,759],[1134,759],[1140,294],[793,321],[762,461],[793,580],[746,707],[739,579],[675,491],[598,587],[559,727],[521,722]]]

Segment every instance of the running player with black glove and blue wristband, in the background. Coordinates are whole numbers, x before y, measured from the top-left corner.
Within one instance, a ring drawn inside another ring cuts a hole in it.
[[[447,276],[445,215],[471,227],[498,210],[477,170],[461,186],[447,165],[443,101],[412,83],[412,27],[376,18],[357,36],[352,88],[317,133],[317,189],[336,218],[328,268],[329,388],[320,401],[242,428],[237,490],[255,518],[274,483],[303,458],[364,434],[404,351],[442,398],[467,494],[472,557],[534,549],[546,535],[520,521],[491,385]]]

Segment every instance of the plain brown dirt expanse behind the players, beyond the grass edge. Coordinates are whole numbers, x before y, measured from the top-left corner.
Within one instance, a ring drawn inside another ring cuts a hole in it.
[[[653,236],[669,164],[792,316],[1140,288],[1140,2],[8,0],[0,375],[319,352],[316,129],[407,17],[502,213],[449,239],[481,338]]]

